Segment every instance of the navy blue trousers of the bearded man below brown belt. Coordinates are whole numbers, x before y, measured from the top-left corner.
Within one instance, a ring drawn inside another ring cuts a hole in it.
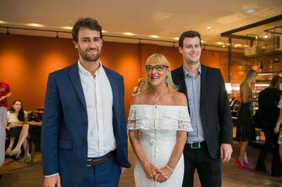
[[[87,167],[80,187],[117,187],[122,168],[110,157],[105,163]]]

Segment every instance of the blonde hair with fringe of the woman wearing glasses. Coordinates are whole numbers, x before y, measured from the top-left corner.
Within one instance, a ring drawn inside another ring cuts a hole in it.
[[[169,67],[169,62],[167,61],[167,58],[164,56],[164,55],[160,55],[160,54],[154,54],[154,55],[151,55],[147,58],[146,60],[146,65],[150,65],[150,64],[161,64],[163,66],[167,66]],[[148,77],[147,77],[147,70],[145,69],[145,80],[146,80],[146,84],[145,84],[145,87],[144,87],[144,91],[149,89],[150,85],[148,84],[149,80],[148,80]],[[174,82],[172,81],[172,74],[170,73],[167,73],[167,76],[168,76],[168,84],[167,84],[167,87],[168,89],[170,90],[173,90],[173,91],[178,91],[179,88],[174,84]]]

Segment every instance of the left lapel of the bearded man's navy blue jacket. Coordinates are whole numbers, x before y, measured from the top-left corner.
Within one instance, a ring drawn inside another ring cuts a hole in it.
[[[78,98],[81,100],[81,103],[83,104],[83,107],[84,107],[85,111],[87,112],[86,101],[85,101],[85,97],[84,97],[84,93],[83,93],[83,87],[82,87],[82,84],[81,84],[81,77],[79,76],[77,62],[76,62],[76,64],[70,66],[68,73],[69,73],[69,78],[72,82],[72,86],[76,90],[76,94],[78,95]]]

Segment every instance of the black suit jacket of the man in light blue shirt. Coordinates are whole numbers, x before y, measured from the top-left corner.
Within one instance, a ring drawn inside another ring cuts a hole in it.
[[[183,66],[172,71],[172,80],[188,98]],[[218,159],[220,145],[233,144],[231,109],[222,73],[202,64],[200,113],[208,152],[210,157]]]

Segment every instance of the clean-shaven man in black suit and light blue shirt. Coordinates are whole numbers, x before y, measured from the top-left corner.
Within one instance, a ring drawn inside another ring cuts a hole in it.
[[[183,66],[172,71],[174,83],[188,99],[192,132],[183,150],[183,187],[194,184],[197,168],[201,186],[221,186],[221,161],[231,159],[231,111],[219,69],[200,63],[201,36],[189,30],[179,37]]]

